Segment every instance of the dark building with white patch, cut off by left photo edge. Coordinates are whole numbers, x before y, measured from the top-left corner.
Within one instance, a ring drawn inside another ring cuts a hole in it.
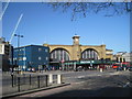
[[[4,37],[0,38],[0,69],[9,70],[11,67],[11,62],[13,57],[13,46],[9,43],[6,42]]]

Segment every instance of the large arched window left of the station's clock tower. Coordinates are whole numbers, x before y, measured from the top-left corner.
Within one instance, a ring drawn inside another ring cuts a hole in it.
[[[69,61],[69,54],[64,48],[55,48],[51,53],[51,59],[53,62]]]

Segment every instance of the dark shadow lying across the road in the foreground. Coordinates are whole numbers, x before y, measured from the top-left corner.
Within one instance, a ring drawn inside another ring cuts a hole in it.
[[[105,87],[97,90],[68,90],[46,97],[132,97],[132,88]],[[41,97],[38,99],[43,99]]]

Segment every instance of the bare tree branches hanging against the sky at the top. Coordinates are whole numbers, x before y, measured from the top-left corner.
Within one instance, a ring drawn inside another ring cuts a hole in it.
[[[120,15],[132,11],[131,2],[51,2],[55,11],[72,11],[72,21],[77,16],[86,18],[89,13],[99,13],[103,11],[105,16]]]

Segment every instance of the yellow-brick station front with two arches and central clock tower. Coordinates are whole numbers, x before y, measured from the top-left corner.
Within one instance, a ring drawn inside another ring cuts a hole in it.
[[[73,45],[50,45],[50,57],[52,62],[80,61],[80,59],[112,59],[112,50],[107,50],[106,45],[81,45],[79,35],[73,36]]]

